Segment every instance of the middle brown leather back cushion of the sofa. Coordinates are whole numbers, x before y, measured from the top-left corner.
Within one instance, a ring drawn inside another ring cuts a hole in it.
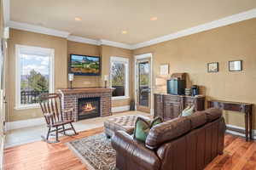
[[[195,129],[207,123],[207,115],[204,111],[197,111],[194,114],[187,116],[191,122],[191,128]]]

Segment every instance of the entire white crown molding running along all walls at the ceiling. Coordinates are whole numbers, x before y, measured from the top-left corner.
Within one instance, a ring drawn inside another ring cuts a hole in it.
[[[24,30],[24,31],[32,31],[32,32],[37,32],[37,33],[42,33],[42,34],[47,34],[50,36],[55,36],[55,37],[65,37],[67,40],[73,41],[73,42],[82,42],[82,43],[89,43],[93,45],[108,45],[112,47],[117,47],[117,48],[126,48],[126,49],[137,49],[137,48],[143,48],[147,47],[150,45],[154,45],[156,43],[160,42],[166,42],[170,41],[172,39],[177,39],[178,37],[185,37],[189,36],[201,31],[208,31],[213,28],[218,28],[221,26],[227,26],[242,20],[249,20],[253,19],[256,17],[256,8],[253,8],[251,10],[248,10],[246,12],[242,12],[239,14],[233,14],[228,17],[225,17],[220,20],[213,20],[212,22],[208,22],[206,24],[202,24],[199,26],[194,26],[189,29],[185,29],[183,31],[177,31],[176,33],[172,33],[163,37],[157,37],[152,40],[146,41],[146,42],[140,42],[136,44],[125,44],[121,42],[113,42],[113,41],[108,41],[105,39],[101,40],[94,40],[90,38],[85,38],[85,37],[78,37],[78,36],[71,36],[69,32],[67,31],[58,31],[54,29],[49,29],[45,28],[43,26],[34,26],[30,24],[25,24],[25,23],[20,23],[16,21],[9,20],[9,0],[3,0],[3,5],[6,10],[4,10],[4,15],[6,19],[6,26],[9,26],[10,28],[15,28],[18,30]]]

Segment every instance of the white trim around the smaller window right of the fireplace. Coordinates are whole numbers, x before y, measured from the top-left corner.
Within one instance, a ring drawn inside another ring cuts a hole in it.
[[[110,57],[110,70],[109,70],[109,85],[112,87],[112,63],[119,62],[125,64],[125,95],[124,96],[116,96],[112,97],[112,100],[123,100],[130,99],[130,91],[129,91],[129,59],[124,57]]]

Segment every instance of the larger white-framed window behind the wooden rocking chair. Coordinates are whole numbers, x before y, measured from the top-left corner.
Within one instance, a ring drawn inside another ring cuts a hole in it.
[[[16,109],[38,107],[40,94],[54,92],[54,49],[16,45]]]

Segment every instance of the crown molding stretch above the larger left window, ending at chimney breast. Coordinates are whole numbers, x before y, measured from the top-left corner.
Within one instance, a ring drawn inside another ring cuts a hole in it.
[[[32,32],[46,34],[46,35],[55,36],[55,37],[67,38],[68,35],[70,34],[67,31],[58,31],[55,29],[45,28],[43,26],[35,26],[35,25],[26,24],[26,23],[16,22],[13,20],[9,20],[9,22],[7,22],[7,26],[9,26],[10,28],[18,29],[18,30],[32,31]]]

